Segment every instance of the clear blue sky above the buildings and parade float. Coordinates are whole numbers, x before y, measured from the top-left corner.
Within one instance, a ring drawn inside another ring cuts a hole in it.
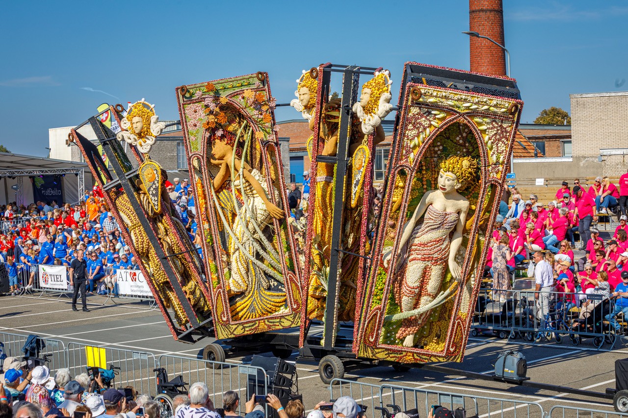
[[[12,1],[0,26],[0,144],[46,156],[48,129],[102,102],[156,105],[178,119],[175,87],[257,71],[279,103],[322,62],[468,69],[468,1]],[[504,0],[522,122],[569,94],[628,90],[628,3]],[[602,115],[600,115],[601,117]],[[278,121],[297,119],[278,109]]]

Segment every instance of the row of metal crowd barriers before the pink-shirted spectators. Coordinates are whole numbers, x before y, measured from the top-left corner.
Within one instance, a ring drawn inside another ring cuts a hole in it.
[[[482,289],[475,306],[471,335],[520,338],[543,343],[555,341],[578,346],[583,341],[598,350],[612,350],[617,335],[605,318],[615,301],[597,294],[513,290],[503,303],[491,289]],[[575,304],[568,303],[571,297]],[[617,319],[622,323],[621,318]]]

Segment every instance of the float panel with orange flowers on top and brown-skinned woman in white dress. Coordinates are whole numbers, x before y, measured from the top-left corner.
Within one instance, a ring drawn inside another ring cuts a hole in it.
[[[217,338],[301,323],[268,74],[176,88]]]

